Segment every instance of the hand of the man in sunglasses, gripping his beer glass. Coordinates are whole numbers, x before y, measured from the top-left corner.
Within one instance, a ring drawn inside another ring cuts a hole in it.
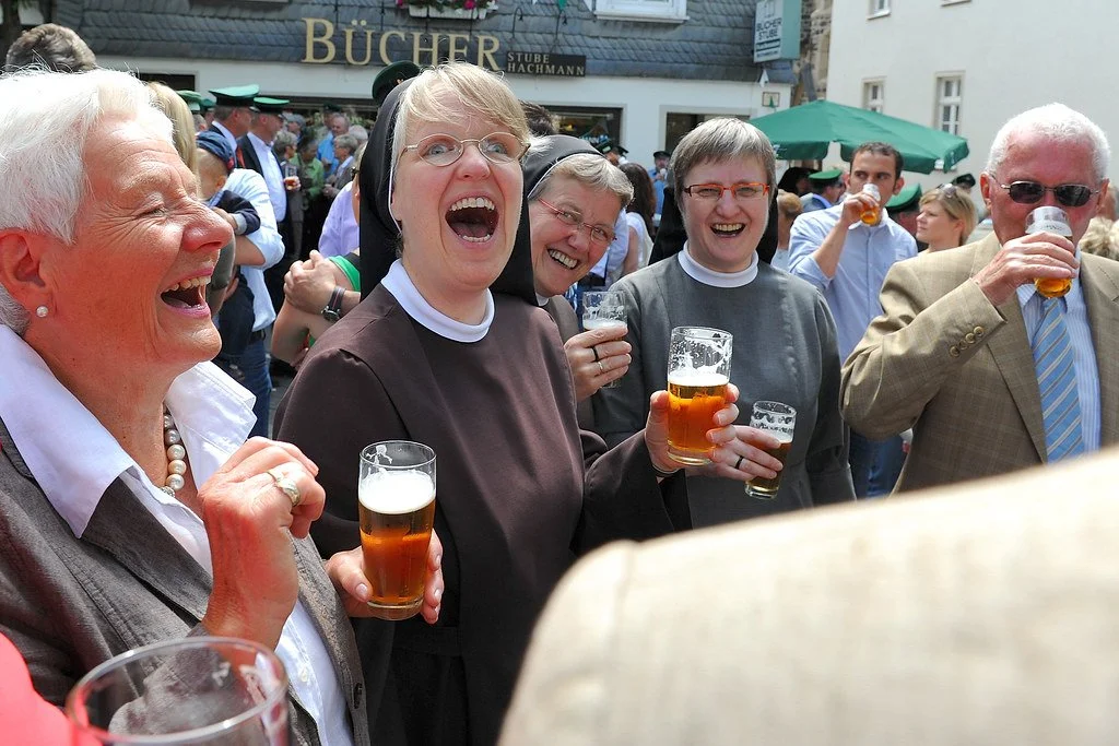
[[[993,305],[1005,303],[1018,286],[1037,277],[1075,277],[1080,268],[1075,247],[1064,236],[1036,233],[1006,242],[980,270],[975,282]]]

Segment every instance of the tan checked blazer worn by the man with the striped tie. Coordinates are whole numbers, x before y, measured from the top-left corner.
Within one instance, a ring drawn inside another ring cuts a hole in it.
[[[913,428],[897,491],[1044,463],[1041,395],[1016,296],[995,308],[968,278],[998,238],[895,264],[875,319],[843,369],[843,415],[882,438]],[[1119,442],[1119,262],[1082,255],[1100,377],[1102,445]]]

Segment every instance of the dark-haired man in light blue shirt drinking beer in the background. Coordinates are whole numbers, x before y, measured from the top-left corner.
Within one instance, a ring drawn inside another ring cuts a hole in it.
[[[913,236],[885,210],[886,202],[905,183],[902,166],[902,155],[893,145],[859,145],[850,159],[850,173],[845,177],[846,198],[835,207],[801,215],[792,224],[789,272],[824,294],[836,320],[840,360],[847,359],[871,320],[882,312],[878,291],[886,272],[894,263],[916,256]],[[863,191],[866,185],[877,188],[877,198]],[[864,215],[874,219],[867,224],[862,219]],[[902,457],[901,440],[875,441],[855,429],[848,454],[855,494],[877,494],[871,490],[875,464],[890,473],[884,488],[888,492]]]

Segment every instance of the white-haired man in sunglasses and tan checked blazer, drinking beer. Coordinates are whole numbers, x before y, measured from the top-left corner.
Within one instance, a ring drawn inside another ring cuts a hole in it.
[[[841,406],[873,436],[913,427],[899,491],[1119,441],[1119,264],[1076,251],[1109,159],[1100,128],[1066,106],[1015,116],[979,182],[994,233],[891,270],[884,314],[844,367]],[[1042,206],[1064,210],[1072,235],[1026,235]],[[1072,287],[1050,299],[1036,278]]]

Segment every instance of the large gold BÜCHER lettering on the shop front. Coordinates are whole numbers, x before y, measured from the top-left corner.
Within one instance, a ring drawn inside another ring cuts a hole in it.
[[[300,62],[326,65],[341,58],[348,65],[389,65],[411,59],[421,67],[464,60],[491,70],[498,67],[500,40],[490,34],[375,31],[365,20],[351,20],[340,31],[326,18],[304,18],[307,39]],[[374,59],[376,55],[377,59]]]

